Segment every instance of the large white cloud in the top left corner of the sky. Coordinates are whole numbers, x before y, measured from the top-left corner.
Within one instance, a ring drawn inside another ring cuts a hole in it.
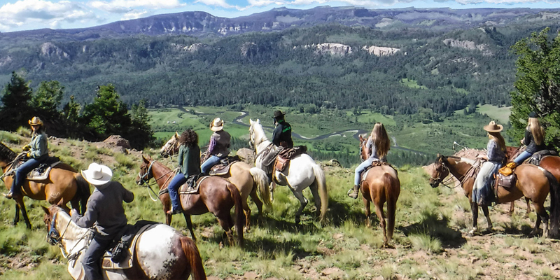
[[[20,0],[0,7],[0,29],[3,30],[28,24],[59,27],[61,22],[95,18],[97,16],[90,10],[71,1]]]

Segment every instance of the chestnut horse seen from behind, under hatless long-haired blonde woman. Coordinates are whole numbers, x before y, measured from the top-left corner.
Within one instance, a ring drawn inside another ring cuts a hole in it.
[[[370,155],[366,155],[365,143],[367,138],[360,135],[360,158],[366,160]],[[362,174],[363,176],[363,174]],[[388,241],[393,239],[393,230],[395,230],[395,211],[397,209],[397,200],[400,195],[400,181],[398,174],[393,167],[388,165],[380,165],[367,170],[365,179],[360,185],[362,191],[363,204],[365,206],[366,224],[370,226],[370,202],[375,205],[375,214],[379,218],[379,224],[383,229],[383,241],[388,246]],[[387,230],[385,230],[385,213],[383,204],[387,202]]]

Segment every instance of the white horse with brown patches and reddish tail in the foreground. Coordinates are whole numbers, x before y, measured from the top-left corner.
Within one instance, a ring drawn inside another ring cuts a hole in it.
[[[47,239],[58,245],[68,258],[68,272],[73,279],[83,279],[83,251],[89,245],[92,230],[80,228],[70,216],[55,205],[45,208]],[[102,269],[104,279],[206,279],[198,248],[180,232],[168,225],[155,224],[138,237],[133,248],[132,267]]]

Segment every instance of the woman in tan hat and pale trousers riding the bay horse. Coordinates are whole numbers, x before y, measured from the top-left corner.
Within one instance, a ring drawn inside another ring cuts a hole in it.
[[[475,179],[475,186],[472,188],[472,202],[478,205],[489,205],[489,198],[491,198],[491,178],[498,168],[505,160],[505,140],[500,134],[503,130],[503,125],[497,125],[493,120],[484,126],[484,130],[488,132],[488,144],[486,145],[487,156],[479,155],[479,158],[487,160],[483,162],[480,171],[478,172],[477,179]]]

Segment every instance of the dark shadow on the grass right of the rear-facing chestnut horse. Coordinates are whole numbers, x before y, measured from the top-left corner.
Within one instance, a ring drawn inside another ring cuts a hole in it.
[[[419,223],[397,227],[406,236],[425,234],[441,241],[443,248],[460,248],[467,242],[459,230],[449,227],[449,218],[440,214],[423,211]]]

